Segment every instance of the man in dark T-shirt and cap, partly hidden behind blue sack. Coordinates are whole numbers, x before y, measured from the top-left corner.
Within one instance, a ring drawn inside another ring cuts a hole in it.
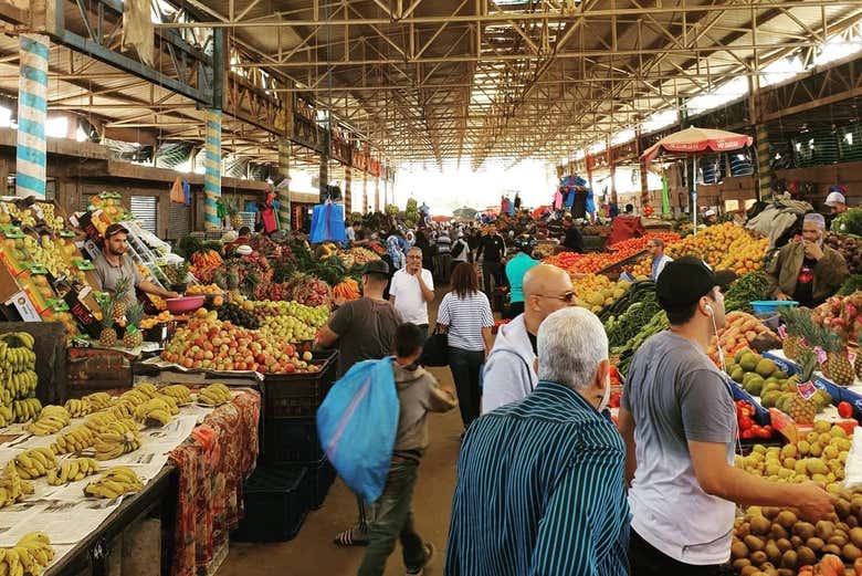
[[[317,334],[317,344],[338,345],[337,377],[340,378],[357,362],[379,359],[392,350],[401,315],[383,297],[389,281],[389,265],[382,260],[369,262],[362,272],[362,297],[336,310]],[[359,520],[356,526],[335,537],[340,546],[368,544],[366,503],[357,498]]]

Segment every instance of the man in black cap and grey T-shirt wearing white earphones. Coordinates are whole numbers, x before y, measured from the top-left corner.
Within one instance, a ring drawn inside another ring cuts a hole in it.
[[[736,503],[795,506],[811,522],[833,512],[813,482],[770,482],[733,465],[735,384],[706,355],[725,323],[716,276],[696,258],[667,263],[655,289],[671,328],[638,349],[623,389],[631,576],[719,574]]]

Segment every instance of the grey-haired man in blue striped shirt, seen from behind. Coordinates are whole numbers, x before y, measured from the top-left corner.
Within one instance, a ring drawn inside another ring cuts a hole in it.
[[[448,576],[626,576],[626,450],[602,417],[608,338],[584,308],[538,331],[536,389],[473,422],[458,462]]]

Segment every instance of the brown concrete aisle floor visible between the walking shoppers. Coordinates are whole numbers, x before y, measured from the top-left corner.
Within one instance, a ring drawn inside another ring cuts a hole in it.
[[[445,293],[438,289],[431,318]],[[454,391],[449,368],[431,368],[440,384]],[[458,408],[445,415],[429,415],[431,446],[419,469],[413,495],[417,531],[434,544],[434,558],[425,574],[443,573],[452,494],[455,488],[455,463],[463,431]],[[299,534],[291,542],[277,544],[231,543],[230,553],[217,576],[347,576],[356,574],[362,561],[361,547],[340,548],[333,537],[356,522],[356,501],[340,480],[336,480],[320,510],[311,512]],[[404,566],[400,545],[389,557],[386,576],[402,576]]]

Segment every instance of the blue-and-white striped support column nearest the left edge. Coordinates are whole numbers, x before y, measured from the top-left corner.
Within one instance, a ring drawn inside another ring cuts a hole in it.
[[[20,34],[18,45],[21,76],[18,81],[15,196],[44,198],[49,39],[42,34]]]

